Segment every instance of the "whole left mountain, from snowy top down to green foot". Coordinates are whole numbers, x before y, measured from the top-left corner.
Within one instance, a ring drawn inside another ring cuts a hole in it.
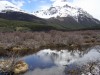
[[[27,13],[9,1],[0,1],[0,31],[47,31],[55,29],[46,20]]]

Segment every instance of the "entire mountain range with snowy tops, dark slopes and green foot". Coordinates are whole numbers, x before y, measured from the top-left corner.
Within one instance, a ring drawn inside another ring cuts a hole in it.
[[[100,29],[100,21],[67,2],[55,2],[49,9],[27,13],[9,1],[0,0],[0,31],[47,31]]]

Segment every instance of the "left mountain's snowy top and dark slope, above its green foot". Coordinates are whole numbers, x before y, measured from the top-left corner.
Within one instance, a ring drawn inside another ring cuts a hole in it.
[[[34,15],[26,13],[11,2],[3,0],[0,1],[0,18],[20,21],[42,20]]]

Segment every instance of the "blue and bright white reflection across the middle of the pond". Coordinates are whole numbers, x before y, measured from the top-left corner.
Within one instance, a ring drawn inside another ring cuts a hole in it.
[[[29,64],[30,69],[50,68],[52,66],[66,65],[79,58],[78,52],[68,52],[67,50],[52,51],[50,49],[39,51],[36,54],[22,58]]]

